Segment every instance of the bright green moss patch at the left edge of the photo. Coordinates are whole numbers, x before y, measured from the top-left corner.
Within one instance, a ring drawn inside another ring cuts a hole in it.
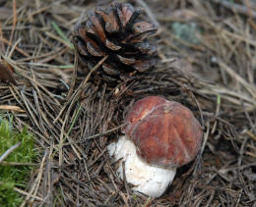
[[[33,137],[25,128],[21,132],[12,129],[6,120],[0,120],[0,156],[10,147],[21,141],[21,145],[12,151],[5,162],[32,163],[36,156]],[[0,164],[0,206],[19,206],[23,197],[14,187],[26,188],[30,179],[31,166],[10,166]]]

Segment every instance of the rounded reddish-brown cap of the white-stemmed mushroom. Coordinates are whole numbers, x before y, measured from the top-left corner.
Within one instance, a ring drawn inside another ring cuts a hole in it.
[[[203,129],[192,112],[174,101],[148,96],[137,101],[127,115],[126,135],[147,163],[180,167],[197,155]]]

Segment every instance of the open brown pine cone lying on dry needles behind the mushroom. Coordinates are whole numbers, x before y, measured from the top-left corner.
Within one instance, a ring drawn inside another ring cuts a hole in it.
[[[75,26],[75,48],[90,70],[108,55],[94,72],[95,81],[113,84],[138,78],[156,64],[157,45],[146,38],[157,26],[138,20],[141,12],[128,3],[112,3],[105,10],[96,8],[86,22]]]

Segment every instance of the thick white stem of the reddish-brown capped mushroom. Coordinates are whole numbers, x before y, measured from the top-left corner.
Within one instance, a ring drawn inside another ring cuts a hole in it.
[[[126,181],[135,185],[134,190],[148,196],[160,197],[176,174],[176,168],[164,169],[144,162],[137,155],[134,143],[125,135],[119,137],[117,142],[109,144],[107,150],[115,161],[123,158]],[[123,180],[121,162],[117,175]]]

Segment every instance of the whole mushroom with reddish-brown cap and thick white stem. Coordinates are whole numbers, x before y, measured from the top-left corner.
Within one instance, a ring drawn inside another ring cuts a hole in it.
[[[126,181],[135,191],[160,197],[176,168],[196,157],[203,129],[188,108],[160,96],[135,102],[126,124],[125,135],[107,146],[108,153],[114,161],[124,161]],[[123,180],[120,163],[117,175]]]

